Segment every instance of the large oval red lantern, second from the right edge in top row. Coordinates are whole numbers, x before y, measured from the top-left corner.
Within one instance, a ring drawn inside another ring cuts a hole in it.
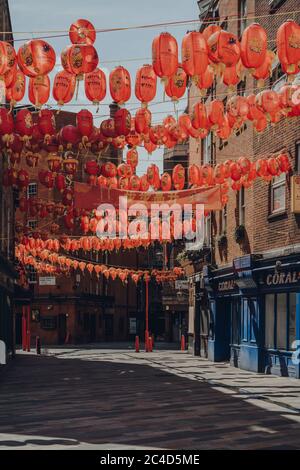
[[[241,59],[248,69],[258,69],[264,63],[267,54],[267,32],[258,23],[248,26],[241,40]]]

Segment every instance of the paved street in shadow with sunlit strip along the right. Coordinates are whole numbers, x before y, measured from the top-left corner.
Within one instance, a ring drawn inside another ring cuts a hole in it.
[[[47,353],[0,376],[1,449],[300,448],[296,380],[178,351]]]

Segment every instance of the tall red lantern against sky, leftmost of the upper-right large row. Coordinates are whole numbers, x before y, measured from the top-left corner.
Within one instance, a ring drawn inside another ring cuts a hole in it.
[[[156,75],[164,82],[176,73],[178,68],[178,45],[169,33],[161,33],[152,42],[152,65]]]

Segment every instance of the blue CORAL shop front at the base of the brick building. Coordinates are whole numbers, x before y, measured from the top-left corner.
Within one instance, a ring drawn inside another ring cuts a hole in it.
[[[300,256],[247,255],[204,268],[208,359],[300,378]],[[299,356],[299,357],[298,357]]]

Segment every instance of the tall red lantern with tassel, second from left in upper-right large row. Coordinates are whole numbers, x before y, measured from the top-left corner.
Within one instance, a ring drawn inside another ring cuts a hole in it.
[[[182,67],[195,83],[208,66],[208,48],[203,34],[198,31],[187,33],[181,45]]]

